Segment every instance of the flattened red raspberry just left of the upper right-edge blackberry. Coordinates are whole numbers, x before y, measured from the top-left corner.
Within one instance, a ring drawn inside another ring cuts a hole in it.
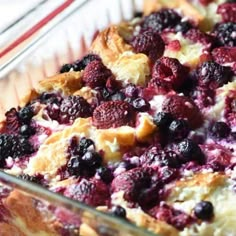
[[[185,37],[195,43],[201,43],[207,48],[210,48],[214,43],[214,38],[211,35],[201,32],[199,29],[190,29]]]

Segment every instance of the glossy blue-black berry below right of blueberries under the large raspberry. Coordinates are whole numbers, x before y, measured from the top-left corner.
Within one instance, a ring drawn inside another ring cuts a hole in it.
[[[199,163],[204,161],[204,154],[201,148],[191,139],[185,139],[178,144],[178,151],[183,162],[196,160]]]

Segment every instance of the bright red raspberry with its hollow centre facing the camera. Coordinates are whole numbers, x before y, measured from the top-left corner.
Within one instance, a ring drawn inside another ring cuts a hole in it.
[[[170,83],[173,88],[179,88],[186,77],[187,68],[184,67],[177,59],[162,57],[152,68],[153,80],[164,80]]]

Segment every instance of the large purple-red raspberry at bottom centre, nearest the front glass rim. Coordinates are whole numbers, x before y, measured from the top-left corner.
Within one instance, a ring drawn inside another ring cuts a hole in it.
[[[142,191],[151,187],[151,174],[140,167],[122,172],[112,181],[112,192],[124,191],[127,201],[137,202]]]

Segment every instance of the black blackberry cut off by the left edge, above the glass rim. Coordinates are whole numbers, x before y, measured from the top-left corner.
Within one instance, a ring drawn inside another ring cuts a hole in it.
[[[33,153],[33,147],[27,139],[8,134],[0,134],[1,165],[8,157],[17,158]]]

